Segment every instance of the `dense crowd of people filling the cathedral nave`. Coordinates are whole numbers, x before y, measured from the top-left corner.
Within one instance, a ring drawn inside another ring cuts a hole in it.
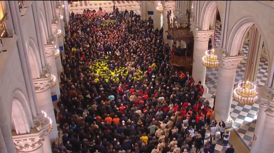
[[[63,136],[53,152],[214,152],[214,107],[201,81],[169,64],[163,28],[118,9],[69,17],[56,114]]]

